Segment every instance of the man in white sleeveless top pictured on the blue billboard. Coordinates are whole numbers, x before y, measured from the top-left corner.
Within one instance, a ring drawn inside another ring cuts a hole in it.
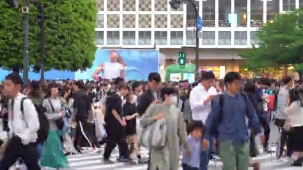
[[[102,72],[104,79],[116,79],[120,77],[124,79],[124,71],[126,64],[121,56],[119,56],[117,51],[110,52],[110,62],[101,63],[99,67],[93,73],[93,78],[99,80],[101,77],[99,74]]]

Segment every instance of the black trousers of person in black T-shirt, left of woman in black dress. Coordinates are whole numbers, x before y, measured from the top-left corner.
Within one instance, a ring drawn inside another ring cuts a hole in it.
[[[103,154],[103,158],[105,160],[110,158],[112,151],[115,149],[117,145],[119,147],[120,158],[129,157],[128,144],[126,143],[126,135],[124,132],[124,128],[119,127],[118,130],[117,126],[116,127],[106,126],[107,139],[106,139],[106,146]]]

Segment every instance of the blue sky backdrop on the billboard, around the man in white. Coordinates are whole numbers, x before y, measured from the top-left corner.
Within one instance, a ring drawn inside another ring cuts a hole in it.
[[[111,50],[97,50],[96,59],[93,66],[84,72],[70,72],[51,70],[44,73],[46,80],[55,79],[92,79],[93,72],[104,62],[109,61],[109,53]],[[127,65],[125,79],[126,80],[147,80],[149,73],[158,72],[159,66],[159,51],[158,50],[116,50],[124,59]],[[0,80],[4,80],[5,76],[11,73],[10,71],[0,69]],[[22,76],[22,73],[20,74]],[[102,76],[102,73],[100,74]],[[39,80],[40,73],[29,72],[30,80]]]

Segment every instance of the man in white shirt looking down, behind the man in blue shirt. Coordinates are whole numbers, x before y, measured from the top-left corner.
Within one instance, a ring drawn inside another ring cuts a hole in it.
[[[211,110],[211,101],[217,95],[217,90],[213,86],[215,75],[212,72],[204,72],[202,81],[194,87],[189,96],[189,104],[192,111],[192,119],[201,121],[205,124],[207,116]],[[203,144],[207,145],[208,141],[203,138]],[[200,170],[207,170],[209,151],[203,151],[200,155]]]

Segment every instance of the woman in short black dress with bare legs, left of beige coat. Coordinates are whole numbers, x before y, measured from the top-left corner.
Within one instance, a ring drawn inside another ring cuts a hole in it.
[[[136,132],[136,118],[139,117],[139,113],[137,113],[137,106],[136,103],[133,102],[133,100],[134,93],[131,91],[126,96],[126,103],[123,106],[123,113],[126,120],[126,135],[128,143],[131,147],[134,147],[135,153],[139,158],[139,141]]]

